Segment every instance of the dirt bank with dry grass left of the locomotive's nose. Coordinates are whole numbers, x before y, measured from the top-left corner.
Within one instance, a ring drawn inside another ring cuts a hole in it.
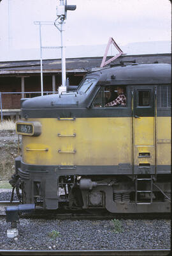
[[[0,181],[9,180],[15,172],[15,157],[21,153],[21,138],[13,130],[0,131]]]

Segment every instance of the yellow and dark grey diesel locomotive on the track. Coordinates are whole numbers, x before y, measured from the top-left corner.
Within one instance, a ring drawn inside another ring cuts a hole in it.
[[[118,86],[125,106],[107,106]],[[170,212],[171,65],[102,68],[72,92],[21,99],[16,131],[10,184],[22,204]]]

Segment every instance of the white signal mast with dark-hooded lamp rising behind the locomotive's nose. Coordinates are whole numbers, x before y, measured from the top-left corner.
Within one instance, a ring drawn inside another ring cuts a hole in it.
[[[60,0],[60,4],[57,6],[57,19],[54,25],[61,32],[61,60],[62,60],[62,86],[59,87],[59,94],[66,92],[66,54],[65,54],[65,42],[64,42],[64,24],[67,17],[67,11],[74,11],[76,5],[67,5],[67,0]],[[56,24],[58,20],[58,24]]]

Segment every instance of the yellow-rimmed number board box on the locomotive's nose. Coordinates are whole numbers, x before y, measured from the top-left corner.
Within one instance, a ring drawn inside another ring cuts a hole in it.
[[[21,135],[39,136],[41,124],[39,122],[16,122],[16,132]]]

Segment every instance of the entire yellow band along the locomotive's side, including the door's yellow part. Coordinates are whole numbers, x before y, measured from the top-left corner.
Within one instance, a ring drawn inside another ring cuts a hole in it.
[[[29,121],[34,122],[34,119]],[[137,123],[133,125],[134,135],[130,117],[77,118],[75,121],[40,118],[37,121],[42,127],[41,135],[24,136],[22,140],[22,156],[26,164],[132,165],[133,154],[136,165],[155,165],[155,154],[157,165],[171,164],[171,118],[168,116],[157,118],[157,152],[154,117],[136,120]],[[138,158],[141,152],[147,152],[151,157]]]

